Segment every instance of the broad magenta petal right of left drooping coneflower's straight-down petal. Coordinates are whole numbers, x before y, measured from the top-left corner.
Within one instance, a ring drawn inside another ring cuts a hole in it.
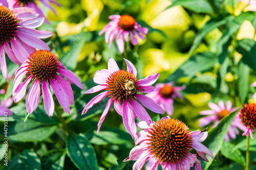
[[[50,83],[53,89],[53,92],[56,95],[56,98],[59,102],[59,104],[61,105],[61,107],[63,108],[63,110],[66,113],[70,112],[70,100],[69,100],[69,96],[65,90],[66,87],[62,87],[62,85],[57,82],[55,79],[50,79]]]

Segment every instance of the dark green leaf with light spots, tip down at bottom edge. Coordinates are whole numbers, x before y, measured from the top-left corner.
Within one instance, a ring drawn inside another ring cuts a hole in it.
[[[71,134],[67,138],[68,156],[79,169],[98,169],[92,145],[83,134]]]

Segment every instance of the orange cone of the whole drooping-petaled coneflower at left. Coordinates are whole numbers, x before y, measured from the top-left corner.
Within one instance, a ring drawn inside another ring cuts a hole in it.
[[[50,80],[54,78],[59,69],[58,57],[47,50],[38,50],[30,55],[27,61],[28,73],[33,75],[33,79]]]

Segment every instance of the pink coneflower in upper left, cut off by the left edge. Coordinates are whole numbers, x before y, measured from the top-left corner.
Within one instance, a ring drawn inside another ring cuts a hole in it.
[[[15,8],[10,10],[0,6],[0,67],[4,78],[8,81],[5,52],[10,60],[21,65],[29,55],[40,50],[50,50],[40,38],[50,37],[52,32],[38,31],[43,17],[38,17],[32,8]]]

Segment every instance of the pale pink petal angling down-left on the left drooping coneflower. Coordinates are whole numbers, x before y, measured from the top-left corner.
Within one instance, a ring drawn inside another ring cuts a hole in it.
[[[12,99],[15,103],[22,100],[22,98],[24,97],[24,95],[26,93],[26,88],[27,88],[29,82],[31,81],[31,79],[32,79],[32,75],[29,76],[25,82],[19,84],[17,86],[17,88],[14,90],[14,92],[12,93]]]

